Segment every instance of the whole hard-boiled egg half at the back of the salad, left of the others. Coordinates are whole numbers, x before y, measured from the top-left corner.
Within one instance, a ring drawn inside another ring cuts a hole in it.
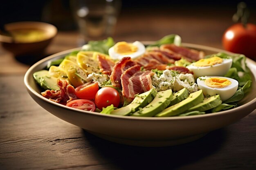
[[[146,48],[144,44],[139,41],[133,43],[128,42],[117,42],[108,50],[109,56],[114,60],[121,60],[123,57],[131,57],[135,59],[140,55],[144,54]]]

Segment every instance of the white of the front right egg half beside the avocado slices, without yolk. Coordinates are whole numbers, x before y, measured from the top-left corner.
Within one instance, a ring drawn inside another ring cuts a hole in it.
[[[224,79],[228,79],[231,84],[229,86],[226,86],[224,88],[211,88],[209,86],[207,86],[206,84],[204,84],[204,80],[207,78],[211,78],[211,77],[219,77],[219,78],[224,78]],[[224,102],[225,100],[229,99],[230,97],[232,97],[238,88],[238,81],[236,81],[235,79],[231,79],[229,77],[220,77],[220,76],[205,76],[205,77],[199,77],[197,79],[197,84],[199,86],[199,88],[203,91],[204,96],[206,95],[220,95],[221,100]]]

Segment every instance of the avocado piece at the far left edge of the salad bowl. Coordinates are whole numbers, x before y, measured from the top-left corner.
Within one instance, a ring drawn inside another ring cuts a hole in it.
[[[57,78],[49,74],[47,70],[40,70],[33,74],[36,82],[45,90],[57,90]]]

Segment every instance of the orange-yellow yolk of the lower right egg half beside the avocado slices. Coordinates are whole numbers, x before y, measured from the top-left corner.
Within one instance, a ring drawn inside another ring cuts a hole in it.
[[[231,82],[228,79],[211,77],[204,80],[204,84],[211,88],[224,88],[229,86]]]

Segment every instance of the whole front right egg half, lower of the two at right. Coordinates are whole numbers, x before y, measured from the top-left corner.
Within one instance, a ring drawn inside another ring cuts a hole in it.
[[[232,97],[238,88],[238,81],[229,77],[205,76],[198,77],[197,84],[204,95],[220,95],[222,101]]]

